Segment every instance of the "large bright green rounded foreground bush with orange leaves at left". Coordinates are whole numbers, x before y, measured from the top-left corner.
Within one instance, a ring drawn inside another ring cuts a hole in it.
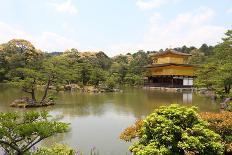
[[[120,137],[126,141],[138,137],[129,148],[134,155],[224,153],[220,136],[208,129],[195,107],[161,107]]]

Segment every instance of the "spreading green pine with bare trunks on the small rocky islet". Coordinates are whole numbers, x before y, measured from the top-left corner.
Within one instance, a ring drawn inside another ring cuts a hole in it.
[[[29,93],[31,100],[28,104],[46,104],[51,85],[62,85],[69,80],[70,69],[66,68],[66,61],[60,56],[44,60],[41,66],[16,68],[9,73],[9,83]],[[37,86],[44,86],[43,95],[40,100],[36,98]]]

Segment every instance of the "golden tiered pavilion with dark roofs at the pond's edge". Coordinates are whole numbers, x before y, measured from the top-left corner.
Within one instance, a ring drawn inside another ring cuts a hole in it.
[[[196,68],[187,64],[191,54],[166,50],[153,54],[151,65],[145,66],[145,85],[151,87],[191,88]]]

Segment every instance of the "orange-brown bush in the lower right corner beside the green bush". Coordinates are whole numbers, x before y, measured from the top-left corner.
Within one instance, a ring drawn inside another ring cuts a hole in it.
[[[226,153],[232,154],[232,113],[202,113],[201,117],[207,120],[209,128],[221,135],[226,146]]]

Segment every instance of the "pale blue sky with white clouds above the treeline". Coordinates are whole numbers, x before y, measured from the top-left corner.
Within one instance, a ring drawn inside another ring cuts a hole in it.
[[[215,45],[232,29],[232,0],[0,0],[0,43],[109,56]]]

